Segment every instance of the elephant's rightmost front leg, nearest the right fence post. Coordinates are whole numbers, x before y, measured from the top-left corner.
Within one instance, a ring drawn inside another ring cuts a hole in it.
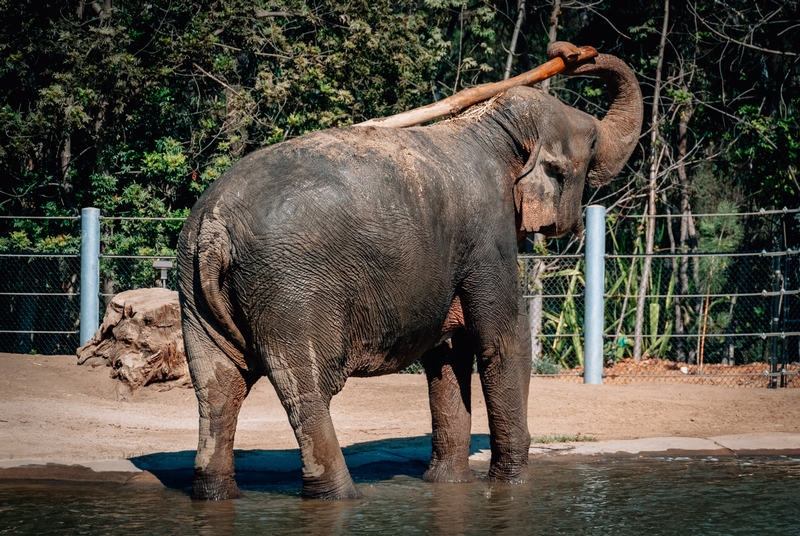
[[[527,316],[515,329],[484,344],[478,372],[489,415],[492,461],[488,480],[523,483],[530,475],[528,451],[528,389],[531,378],[530,331]]]

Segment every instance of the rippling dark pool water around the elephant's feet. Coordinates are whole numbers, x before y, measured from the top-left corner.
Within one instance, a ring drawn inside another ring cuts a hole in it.
[[[299,472],[244,497],[185,489],[0,484],[7,534],[800,534],[800,459],[538,462],[531,485],[428,484],[422,468],[356,476],[364,499],[299,497]],[[406,473],[406,474],[399,474]],[[260,482],[260,483],[259,483]],[[271,480],[270,480],[271,482]]]

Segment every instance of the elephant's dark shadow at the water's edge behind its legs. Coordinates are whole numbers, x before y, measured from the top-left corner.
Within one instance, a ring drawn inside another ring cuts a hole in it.
[[[473,434],[470,454],[489,448],[487,434]],[[356,443],[342,449],[353,480],[375,482],[398,475],[422,478],[431,455],[430,434]],[[192,485],[195,451],[157,452],[131,458],[139,469],[153,473],[168,488]],[[300,450],[235,450],[236,482],[242,489],[300,491]]]

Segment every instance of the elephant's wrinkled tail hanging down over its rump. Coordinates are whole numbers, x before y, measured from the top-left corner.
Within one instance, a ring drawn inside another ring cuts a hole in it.
[[[247,370],[244,357],[247,343],[233,320],[233,304],[223,283],[233,251],[227,226],[215,218],[204,219],[197,236],[196,251],[203,299],[216,320],[216,326],[209,329],[209,334],[232,361]]]

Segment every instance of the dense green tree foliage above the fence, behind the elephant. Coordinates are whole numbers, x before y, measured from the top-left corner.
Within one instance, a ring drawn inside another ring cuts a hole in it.
[[[146,186],[149,203],[186,209],[253,149],[499,79],[516,18],[515,5],[484,0],[120,0],[111,7],[0,5],[0,171],[9,181],[0,211],[40,213],[45,202],[55,202],[73,214],[92,204],[107,214],[127,214],[131,205],[145,203],[133,184]],[[591,36],[589,44],[603,49],[605,43],[604,52],[652,79],[659,7],[603,5],[600,17],[564,9],[559,39]],[[707,2],[695,7],[709,20],[724,15]],[[549,8],[527,6],[529,24],[549,24]],[[759,16],[743,0],[725,9],[744,20]],[[736,169],[741,177],[734,182],[745,194],[761,192],[761,206],[792,206],[798,195],[792,65],[777,62],[764,71],[762,55],[743,49],[730,65],[734,80],[719,72],[713,54],[690,61],[681,56],[699,42],[719,47],[715,34],[680,13],[672,20],[666,68],[698,74],[685,87],[666,87],[666,102],[695,108],[696,137],[714,141],[722,157],[717,177]],[[627,28],[633,39],[609,49],[614,27]],[[780,37],[759,37],[791,50],[794,30],[784,29]],[[539,63],[543,48],[541,36],[523,32],[515,72]],[[776,85],[779,79],[786,82]],[[580,95],[588,100],[575,102],[578,107],[602,113],[598,106],[606,97],[596,83],[554,84],[566,100]],[[670,129],[664,126],[667,138]],[[620,181],[629,178],[623,174]]]

